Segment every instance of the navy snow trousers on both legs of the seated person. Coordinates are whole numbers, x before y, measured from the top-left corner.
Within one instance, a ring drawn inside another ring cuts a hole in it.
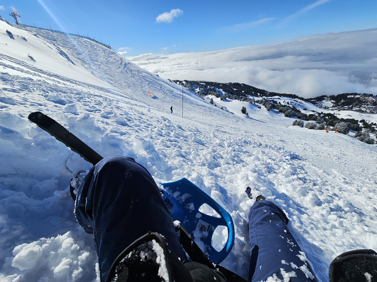
[[[108,157],[92,167],[79,188],[75,215],[94,235],[101,281],[115,258],[148,231],[162,234],[181,261],[187,260],[155,181],[132,158]],[[272,202],[251,207],[249,281],[274,275],[284,281],[283,274],[295,275],[291,281],[316,281],[287,224],[284,212]]]

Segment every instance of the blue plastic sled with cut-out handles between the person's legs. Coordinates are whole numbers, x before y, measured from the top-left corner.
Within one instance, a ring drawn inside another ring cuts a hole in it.
[[[211,261],[220,263],[224,260],[234,244],[234,224],[230,214],[186,178],[162,183],[162,187],[162,198],[173,220],[181,222]],[[203,209],[210,210],[211,214],[199,211],[203,204],[210,206],[216,212],[208,207]],[[227,241],[220,251],[216,251],[212,245],[212,237],[217,226],[225,226],[228,229]]]

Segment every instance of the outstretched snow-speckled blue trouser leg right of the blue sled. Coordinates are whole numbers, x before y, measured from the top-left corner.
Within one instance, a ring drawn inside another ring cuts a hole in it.
[[[269,277],[281,281],[290,277],[291,282],[317,281],[305,254],[288,230],[284,211],[270,201],[255,202],[248,223],[249,281],[266,281]]]

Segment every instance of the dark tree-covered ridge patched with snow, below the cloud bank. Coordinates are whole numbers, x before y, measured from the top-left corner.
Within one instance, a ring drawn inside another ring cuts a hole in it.
[[[350,131],[356,132],[356,138],[361,141],[374,144],[370,134],[377,134],[377,124],[366,122],[365,119],[338,117],[337,111],[347,110],[359,113],[377,113],[377,97],[372,94],[345,93],[331,96],[319,96],[312,99],[304,99],[295,94],[280,94],[268,92],[243,83],[218,83],[208,81],[174,80],[195,94],[203,97],[213,95],[221,100],[235,99],[250,104],[255,104],[259,109],[262,106],[267,111],[276,110],[287,118],[297,118],[293,125],[303,127],[303,121],[310,121],[305,127],[310,129],[328,129],[343,134]],[[313,104],[315,110],[308,110],[308,104]],[[211,104],[213,99],[211,98]],[[323,111],[319,111],[323,109]],[[246,108],[242,113],[247,114]]]

